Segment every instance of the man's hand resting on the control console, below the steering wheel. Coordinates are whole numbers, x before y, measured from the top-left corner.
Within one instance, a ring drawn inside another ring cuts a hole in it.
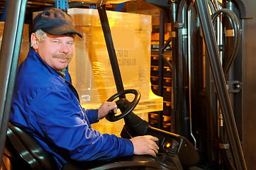
[[[133,142],[134,154],[150,154],[156,157],[159,147],[155,143],[158,141],[157,137],[150,135],[133,137],[130,139]]]

